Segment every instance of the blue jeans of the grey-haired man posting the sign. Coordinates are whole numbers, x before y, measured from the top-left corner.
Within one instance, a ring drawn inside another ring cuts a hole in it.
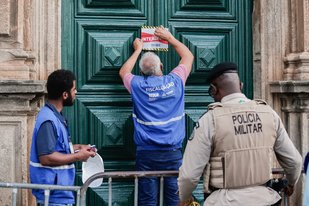
[[[136,171],[179,170],[182,164],[180,150],[137,151]],[[138,205],[156,206],[158,202],[159,177],[138,178]],[[165,177],[163,197],[168,206],[177,206],[179,195],[177,177]]]

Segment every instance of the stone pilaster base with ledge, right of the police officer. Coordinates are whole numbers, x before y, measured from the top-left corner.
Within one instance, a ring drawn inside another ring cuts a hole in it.
[[[309,81],[269,82],[270,91],[281,101],[282,122],[303,159],[308,153]],[[305,174],[301,174],[288,205],[302,205]]]

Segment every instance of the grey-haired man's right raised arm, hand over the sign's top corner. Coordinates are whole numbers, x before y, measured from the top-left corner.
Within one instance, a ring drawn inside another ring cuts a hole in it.
[[[181,58],[179,65],[185,65],[189,75],[192,69],[192,63],[194,59],[193,54],[190,52],[190,50],[184,44],[178,41],[171,34],[171,32],[167,31],[162,25],[161,28],[157,28],[155,30],[155,35],[159,36],[159,38],[162,40],[168,41],[171,44],[171,46],[176,50],[177,54]]]

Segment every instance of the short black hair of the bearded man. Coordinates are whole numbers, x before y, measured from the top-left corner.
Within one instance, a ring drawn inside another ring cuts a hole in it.
[[[70,94],[75,80],[76,76],[70,70],[59,69],[54,71],[47,78],[48,99],[57,100],[62,96],[63,92]]]

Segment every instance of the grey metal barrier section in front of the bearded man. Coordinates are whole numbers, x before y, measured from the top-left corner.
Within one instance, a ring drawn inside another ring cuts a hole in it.
[[[43,184],[29,184],[29,183],[1,183],[0,182],[0,187],[13,188],[13,201],[12,201],[13,206],[16,206],[16,203],[17,203],[17,188],[44,190],[44,196],[45,196],[44,206],[49,205],[49,192],[51,190],[75,191],[77,192],[76,206],[80,206],[79,196],[80,196],[80,190],[82,188],[80,186],[43,185]]]

